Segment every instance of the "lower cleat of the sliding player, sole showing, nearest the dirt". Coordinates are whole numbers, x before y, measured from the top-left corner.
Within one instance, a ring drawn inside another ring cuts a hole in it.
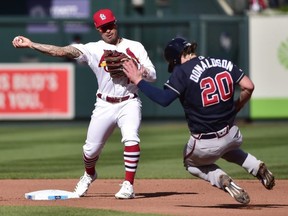
[[[250,202],[248,193],[236,185],[229,176],[220,176],[220,184],[224,191],[228,192],[237,202],[242,204],[248,204]]]

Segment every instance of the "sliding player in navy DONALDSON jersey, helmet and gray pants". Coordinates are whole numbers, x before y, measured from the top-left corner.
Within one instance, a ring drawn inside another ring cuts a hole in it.
[[[231,61],[197,56],[196,48],[197,43],[188,43],[183,38],[167,44],[165,58],[172,74],[163,90],[142,79],[141,69],[130,61],[124,63],[124,71],[146,96],[162,106],[179,98],[190,130],[183,154],[187,171],[228,192],[236,201],[248,204],[248,193],[216,161],[223,158],[238,164],[268,190],[275,185],[265,163],[240,149],[242,134],[234,123],[236,114],[249,101],[254,84]],[[234,101],[236,85],[241,92]]]

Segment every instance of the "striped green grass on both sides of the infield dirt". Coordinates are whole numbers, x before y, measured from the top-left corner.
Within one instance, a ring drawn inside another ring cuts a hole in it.
[[[0,123],[0,179],[79,178],[83,174],[82,145],[87,122]],[[240,124],[242,148],[263,160],[277,179],[288,178],[288,123]],[[137,178],[194,178],[183,167],[182,149],[189,138],[185,122],[144,122]],[[118,129],[97,164],[99,178],[123,179],[123,146]],[[254,179],[241,167],[219,160],[233,178]],[[0,207],[1,215],[132,215],[68,207]],[[133,215],[145,215],[135,214]],[[151,214],[149,214],[151,215]]]

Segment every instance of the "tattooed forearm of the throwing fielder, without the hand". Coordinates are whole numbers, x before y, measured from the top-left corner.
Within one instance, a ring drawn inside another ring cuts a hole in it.
[[[32,49],[51,56],[77,58],[81,52],[73,46],[59,47],[49,44],[32,43]]]

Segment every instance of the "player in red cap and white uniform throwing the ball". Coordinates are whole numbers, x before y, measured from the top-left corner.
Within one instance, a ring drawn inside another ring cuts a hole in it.
[[[31,48],[51,56],[76,59],[90,66],[98,81],[97,100],[83,145],[85,172],[74,192],[78,196],[87,193],[89,186],[97,178],[95,166],[99,155],[107,139],[118,126],[122,134],[121,142],[124,144],[125,180],[115,197],[132,199],[135,197],[133,183],[140,157],[138,131],[141,123],[141,101],[137,95],[138,87],[127,77],[112,78],[105,71],[104,50],[117,50],[136,60],[144,68],[143,77],[148,82],[156,80],[156,71],[141,43],[118,35],[116,18],[111,10],[97,11],[93,20],[102,37],[98,42],[59,47],[35,43],[26,37],[17,36],[12,44],[16,48]]]

